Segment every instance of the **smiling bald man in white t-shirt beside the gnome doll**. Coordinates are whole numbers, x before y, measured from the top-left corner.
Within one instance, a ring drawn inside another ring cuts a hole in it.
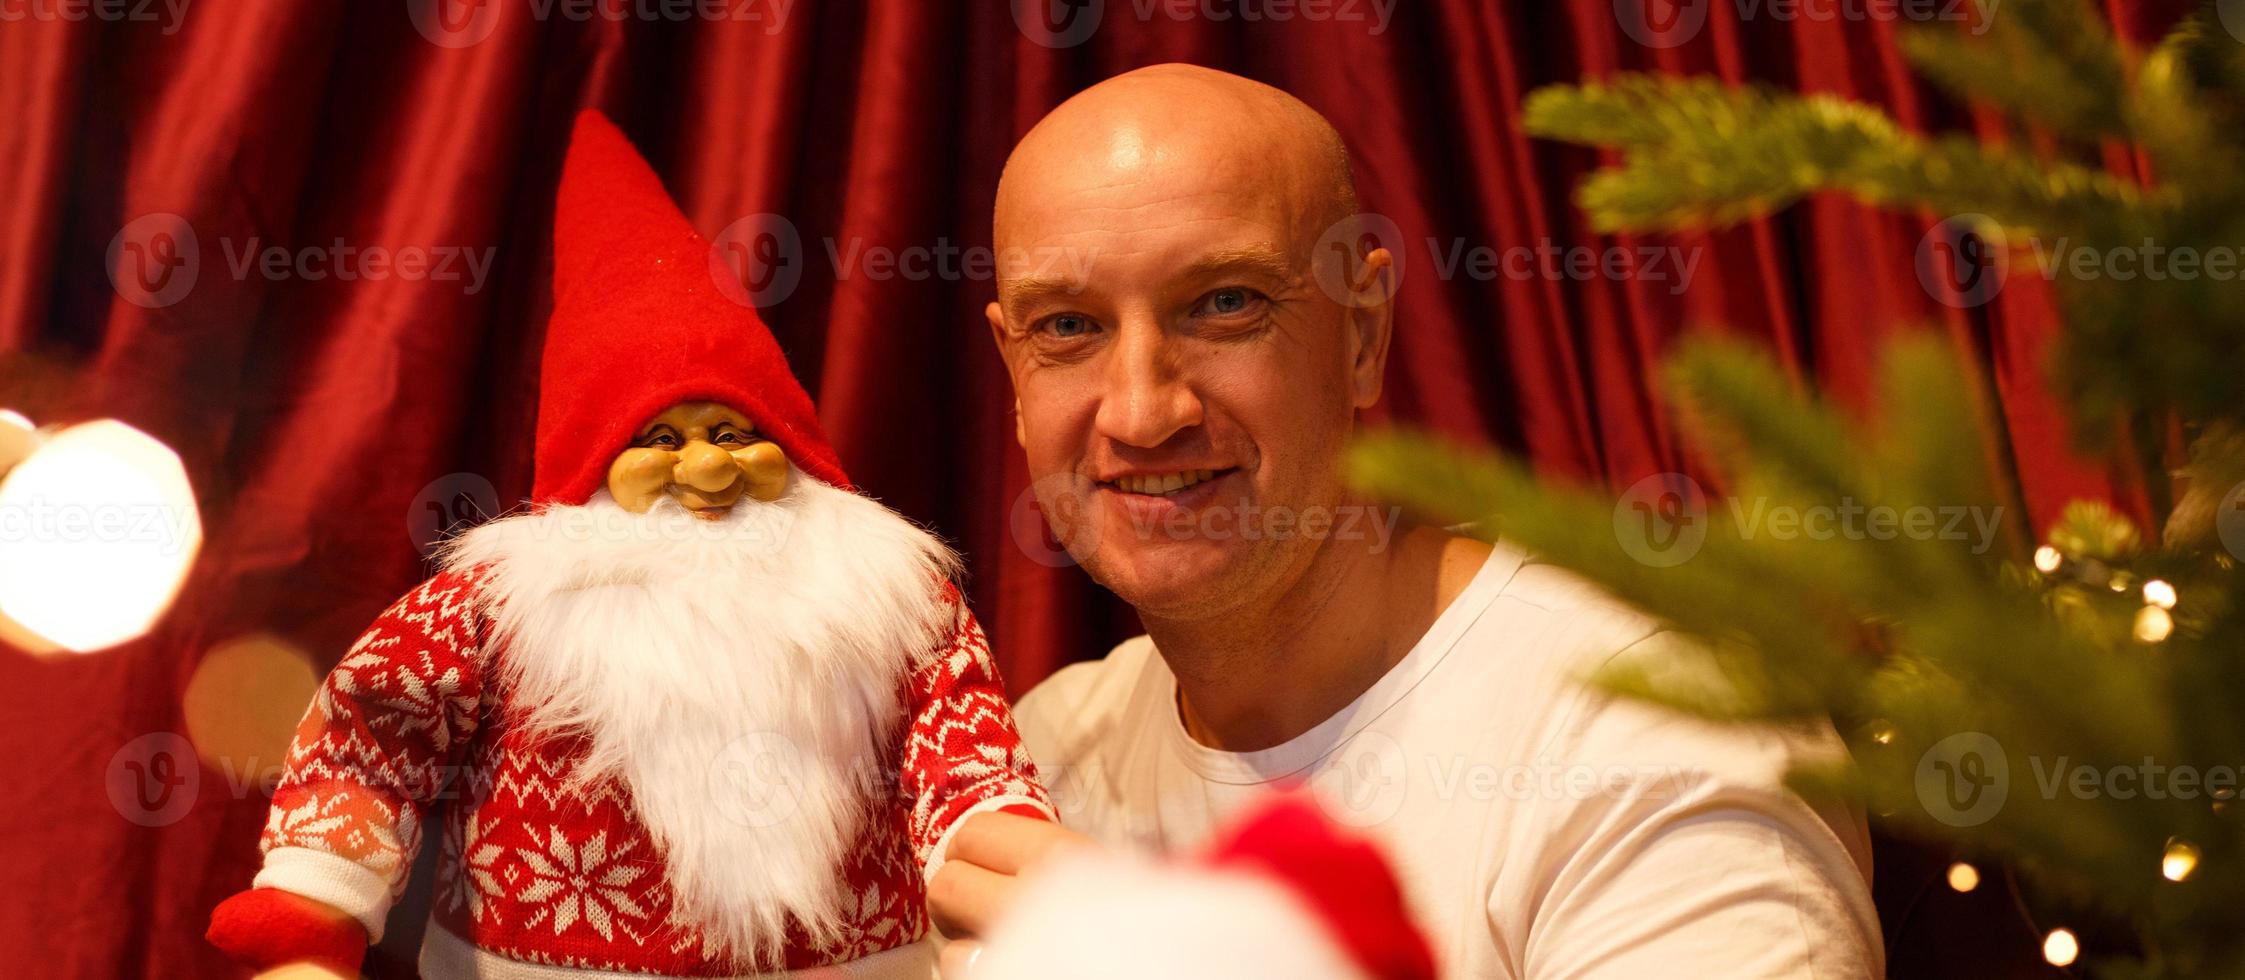
[[[1783,785],[1839,751],[1830,727],[1603,697],[1583,673],[1688,648],[1349,493],[1394,292],[1354,211],[1318,112],[1185,65],[1093,85],[1006,161],[988,321],[1017,437],[1055,534],[1147,635],[1021,700],[1071,830],[968,823],[936,919],[977,933],[1073,834],[1194,845],[1307,783],[1385,841],[1446,976],[1879,976],[1861,816]]]

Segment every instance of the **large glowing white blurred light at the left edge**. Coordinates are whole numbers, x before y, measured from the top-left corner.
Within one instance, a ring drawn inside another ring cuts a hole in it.
[[[135,639],[200,547],[177,453],[114,419],[63,428],[0,480],[0,628],[36,653]]]

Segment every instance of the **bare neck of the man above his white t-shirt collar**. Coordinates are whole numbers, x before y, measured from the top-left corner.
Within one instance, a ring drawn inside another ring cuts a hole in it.
[[[1145,628],[1176,675],[1185,731],[1212,749],[1259,751],[1385,677],[1486,556],[1486,545],[1428,527],[1381,552],[1322,547],[1289,588],[1250,608]]]

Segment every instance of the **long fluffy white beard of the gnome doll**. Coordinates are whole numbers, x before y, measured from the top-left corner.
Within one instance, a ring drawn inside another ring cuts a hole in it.
[[[768,969],[790,924],[840,937],[842,861],[896,792],[907,668],[952,626],[943,543],[795,471],[723,520],[595,493],[476,527],[442,561],[489,565],[510,722],[586,738],[577,778],[629,789],[676,919]]]

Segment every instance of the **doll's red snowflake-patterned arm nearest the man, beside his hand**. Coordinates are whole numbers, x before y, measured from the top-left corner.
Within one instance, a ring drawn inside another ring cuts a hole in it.
[[[1012,727],[990,641],[965,599],[950,585],[945,590],[954,608],[952,630],[914,662],[902,765],[911,848],[927,877],[943,863],[952,832],[972,814],[1006,810],[1053,819],[1037,767]]]

